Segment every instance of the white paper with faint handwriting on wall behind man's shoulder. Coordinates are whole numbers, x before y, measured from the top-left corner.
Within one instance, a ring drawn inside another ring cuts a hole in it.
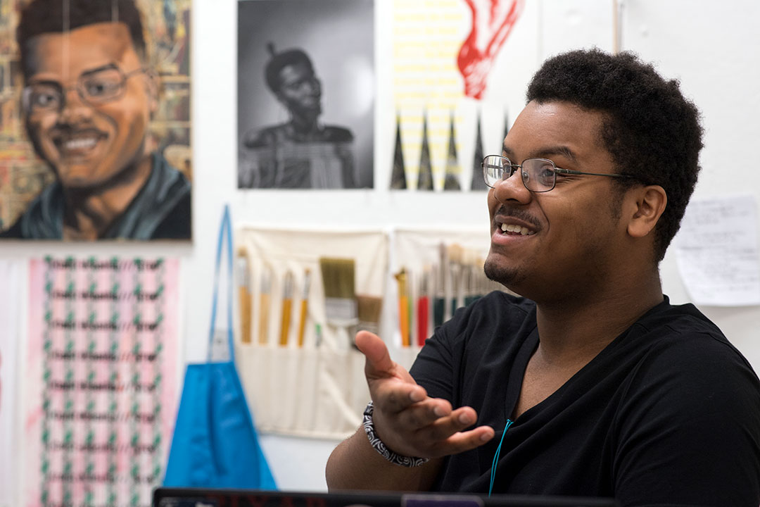
[[[676,261],[694,303],[760,305],[757,203],[752,195],[692,200]]]

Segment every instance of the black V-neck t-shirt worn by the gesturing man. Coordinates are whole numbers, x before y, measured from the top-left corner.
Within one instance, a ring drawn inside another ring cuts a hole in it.
[[[503,430],[538,345],[535,304],[495,292],[435,330],[411,374],[477,410],[490,442],[446,458],[434,489],[614,496],[622,505],[760,505],[760,382],[692,305],[667,297]]]

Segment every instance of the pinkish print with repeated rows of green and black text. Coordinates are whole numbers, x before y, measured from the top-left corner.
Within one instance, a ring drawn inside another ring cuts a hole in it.
[[[150,505],[176,417],[179,261],[30,265],[30,507]]]

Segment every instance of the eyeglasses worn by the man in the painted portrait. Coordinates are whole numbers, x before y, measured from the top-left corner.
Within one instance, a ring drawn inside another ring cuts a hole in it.
[[[117,100],[126,90],[127,79],[135,74],[145,72],[144,68],[124,73],[116,65],[83,72],[72,87],[62,87],[57,81],[38,81],[24,87],[21,100],[27,113],[61,112],[66,103],[66,93],[71,88],[77,90],[81,100],[90,106]]]

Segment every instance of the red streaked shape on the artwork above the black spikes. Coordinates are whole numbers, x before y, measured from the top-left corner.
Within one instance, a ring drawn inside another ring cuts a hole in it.
[[[489,71],[523,10],[524,0],[464,0],[472,11],[472,29],[457,57],[464,94],[480,100]]]

